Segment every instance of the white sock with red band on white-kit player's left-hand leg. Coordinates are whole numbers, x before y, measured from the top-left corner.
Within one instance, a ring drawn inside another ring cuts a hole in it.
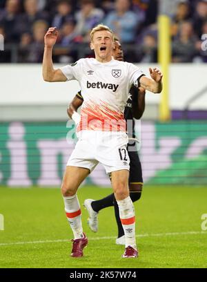
[[[65,211],[68,223],[72,229],[75,239],[83,238],[83,228],[81,223],[81,209],[77,194],[74,196],[64,197]]]

